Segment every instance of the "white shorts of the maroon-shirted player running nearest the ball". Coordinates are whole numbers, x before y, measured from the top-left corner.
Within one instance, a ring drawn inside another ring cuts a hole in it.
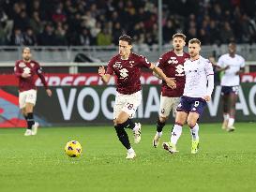
[[[131,95],[116,93],[113,106],[113,119],[116,119],[121,111],[128,113],[132,118],[142,102],[142,92],[138,91]]]

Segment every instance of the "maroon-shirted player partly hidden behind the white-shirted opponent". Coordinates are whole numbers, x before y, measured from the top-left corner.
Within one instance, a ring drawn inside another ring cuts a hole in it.
[[[174,78],[176,81],[176,89],[170,88],[165,81],[162,81],[157,133],[153,139],[154,147],[158,147],[162,129],[171,110],[173,110],[173,117],[175,117],[180,96],[183,94],[185,86],[184,62],[189,58],[189,54],[183,51],[185,44],[186,36],[184,34],[174,34],[173,50],[164,53],[158,60],[157,66],[164,71],[167,77]]]

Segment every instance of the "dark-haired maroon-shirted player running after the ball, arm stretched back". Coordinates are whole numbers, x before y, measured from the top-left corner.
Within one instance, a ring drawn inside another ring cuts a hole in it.
[[[128,159],[134,158],[136,154],[130,145],[125,128],[133,130],[135,143],[141,140],[141,124],[131,121],[142,100],[141,68],[152,69],[162,80],[166,81],[168,86],[176,87],[175,82],[171,78],[167,78],[158,66],[149,63],[142,55],[139,56],[131,52],[131,40],[131,37],[127,35],[119,37],[119,54],[110,60],[107,71],[104,66],[98,68],[98,74],[105,83],[110,81],[113,74],[117,77],[113,124],[118,139],[128,150],[126,157]]]

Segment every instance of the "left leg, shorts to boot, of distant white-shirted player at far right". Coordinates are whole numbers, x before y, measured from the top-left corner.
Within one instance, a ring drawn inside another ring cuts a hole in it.
[[[223,104],[223,123],[222,129],[227,130],[228,122],[229,122],[229,95],[228,90],[229,87],[223,86],[221,88],[221,97],[222,97],[222,104]]]

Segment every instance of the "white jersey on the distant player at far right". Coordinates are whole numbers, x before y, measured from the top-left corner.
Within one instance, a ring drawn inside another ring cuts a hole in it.
[[[242,56],[235,54],[234,57],[231,57],[229,53],[223,54],[218,59],[218,66],[230,66],[229,69],[225,70],[225,73],[221,78],[221,86],[239,85],[240,78],[239,75],[235,75],[235,73],[238,72],[241,67],[245,66],[245,59]]]

